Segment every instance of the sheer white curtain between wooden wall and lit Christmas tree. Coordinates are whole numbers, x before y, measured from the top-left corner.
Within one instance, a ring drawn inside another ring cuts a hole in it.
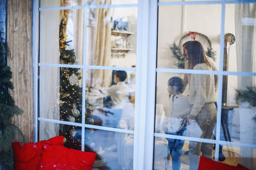
[[[58,1],[41,1],[47,5],[60,6]],[[60,11],[43,11],[40,15],[40,62],[59,63]],[[59,86],[60,71],[55,67],[40,67],[40,117],[60,119]],[[39,140],[58,136],[59,125],[40,122]]]

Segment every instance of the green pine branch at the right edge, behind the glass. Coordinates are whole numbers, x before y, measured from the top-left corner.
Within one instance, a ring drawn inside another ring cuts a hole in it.
[[[246,87],[246,90],[236,90],[237,99],[241,102],[249,103],[252,107],[256,107],[256,87]]]

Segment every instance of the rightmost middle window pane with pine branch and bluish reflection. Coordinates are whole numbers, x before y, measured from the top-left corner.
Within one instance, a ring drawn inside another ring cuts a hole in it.
[[[223,80],[225,81],[223,81],[220,139],[256,144],[255,76],[224,76]]]

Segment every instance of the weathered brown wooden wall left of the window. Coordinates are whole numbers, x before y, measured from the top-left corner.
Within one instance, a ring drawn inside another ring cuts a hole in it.
[[[28,141],[34,138],[33,67],[32,67],[32,0],[8,0],[8,66],[12,69],[15,104],[24,110],[13,120]]]

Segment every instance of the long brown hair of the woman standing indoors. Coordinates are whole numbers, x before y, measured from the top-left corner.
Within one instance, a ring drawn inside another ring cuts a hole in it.
[[[211,64],[205,57],[204,48],[198,41],[191,41],[186,45],[186,50],[188,51],[188,63],[189,69],[193,69],[196,64],[205,63],[207,66],[211,67]]]

